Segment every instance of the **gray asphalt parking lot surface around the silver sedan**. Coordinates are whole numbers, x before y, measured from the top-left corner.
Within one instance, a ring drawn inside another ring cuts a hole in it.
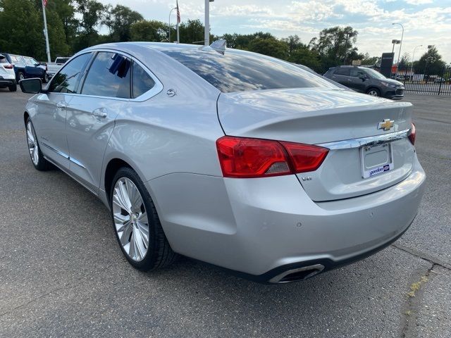
[[[23,109],[0,89],[0,337],[451,337],[451,97],[408,95],[428,175],[412,227],[364,261],[262,285],[180,260],[140,273],[109,213],[35,170]]]

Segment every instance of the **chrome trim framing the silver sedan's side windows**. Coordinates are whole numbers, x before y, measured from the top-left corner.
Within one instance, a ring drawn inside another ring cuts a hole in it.
[[[144,94],[142,94],[142,95],[136,97],[135,99],[131,99],[131,98],[130,98],[130,99],[125,99],[125,98],[123,98],[123,97],[113,97],[113,96],[87,95],[87,94],[80,94],[80,93],[49,92],[48,94],[52,94],[52,93],[53,93],[53,94],[64,94],[64,95],[70,95],[70,96],[94,97],[94,98],[98,98],[98,99],[112,99],[112,100],[116,100],[116,101],[144,102],[144,101],[147,101],[148,99],[151,99],[152,97],[156,96],[157,94],[161,93],[161,91],[163,91],[163,87],[164,87],[164,86],[163,86],[163,84],[160,82],[159,78],[156,77],[156,75],[154,75],[154,73],[152,73],[152,71],[149,70],[149,68],[147,68],[147,66],[144,65],[144,63],[142,63],[140,60],[138,60],[137,58],[135,58],[135,56],[131,56],[130,54],[125,53],[125,51],[118,51],[118,50],[116,50],[116,49],[89,49],[88,51],[84,51],[84,52],[82,52],[82,53],[80,53],[80,54],[75,54],[72,58],[70,58],[70,60],[66,61],[66,63],[64,64],[64,66],[66,66],[70,61],[72,61],[73,58],[76,58],[76,57],[78,57],[78,56],[80,56],[80,55],[82,55],[82,54],[92,53],[92,54],[94,55],[94,54],[97,54],[99,51],[107,51],[107,52],[110,52],[110,53],[118,53],[118,54],[121,54],[121,55],[123,55],[123,56],[126,56],[126,57],[132,59],[132,61],[134,61],[134,62],[136,62],[138,65],[140,65],[140,66],[142,67],[142,69],[144,69],[144,71],[145,71],[150,77],[152,77],[152,80],[154,80],[154,82],[155,82],[154,87],[152,87],[152,89],[148,90],[148,91],[145,92]],[[94,57],[95,57],[95,55],[94,55]],[[93,61],[95,61],[95,58],[94,58]],[[90,61],[90,62],[93,62],[93,61]],[[63,67],[63,68],[64,68],[64,67]],[[63,70],[63,68],[61,68],[60,70],[58,70],[58,73],[61,72],[61,70]],[[86,72],[86,70],[85,70],[85,72]],[[89,72],[89,69],[88,69],[88,72]],[[56,73],[56,74],[58,74],[58,73]],[[56,75],[56,74],[55,74],[55,75]],[[54,79],[55,75],[52,77],[52,80]],[[87,74],[84,74],[83,77],[82,77],[82,82],[83,82],[83,83],[84,83],[85,80],[86,80],[86,75],[87,75]],[[48,87],[50,86],[50,83],[51,83],[51,82],[49,82],[49,84],[47,85]],[[81,83],[80,83],[80,84],[81,84]],[[80,85],[80,84],[79,84],[79,85]],[[130,84],[133,85],[131,82],[130,82]]]

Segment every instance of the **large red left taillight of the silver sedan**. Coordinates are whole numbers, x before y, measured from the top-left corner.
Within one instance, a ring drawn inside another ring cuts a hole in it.
[[[268,177],[314,171],[328,149],[309,144],[224,136],[216,141],[224,177]]]

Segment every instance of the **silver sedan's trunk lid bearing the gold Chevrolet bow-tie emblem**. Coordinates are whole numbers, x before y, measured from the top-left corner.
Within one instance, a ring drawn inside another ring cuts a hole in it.
[[[221,94],[218,117],[230,136],[328,147],[329,154],[318,170],[297,175],[314,201],[345,199],[390,187],[407,177],[414,163],[414,147],[407,139],[412,104],[406,102],[341,89],[276,89]],[[384,121],[387,128],[378,129],[380,123],[385,126]],[[395,140],[387,142],[393,133],[397,133]],[[366,144],[367,137],[385,141],[376,142],[377,146]]]

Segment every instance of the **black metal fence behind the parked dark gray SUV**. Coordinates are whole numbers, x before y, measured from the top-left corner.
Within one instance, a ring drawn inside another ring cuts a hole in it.
[[[379,70],[374,65],[362,65],[361,67]],[[451,96],[451,67],[442,68],[438,74],[430,74],[426,69],[424,74],[416,74],[410,67],[400,68],[392,78],[404,83],[406,92],[414,94],[450,95]]]

